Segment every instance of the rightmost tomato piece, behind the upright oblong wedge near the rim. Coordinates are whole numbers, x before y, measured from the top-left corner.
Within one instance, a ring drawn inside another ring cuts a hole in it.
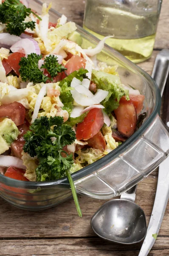
[[[121,97],[120,102],[132,102],[135,106],[137,114],[139,114],[143,109],[144,95],[130,95],[130,101],[127,101],[126,97]]]

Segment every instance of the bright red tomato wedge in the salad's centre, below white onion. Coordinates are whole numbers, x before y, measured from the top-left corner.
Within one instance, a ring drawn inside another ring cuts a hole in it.
[[[89,140],[96,135],[104,124],[103,113],[100,108],[93,108],[89,111],[83,122],[77,125],[77,140]]]

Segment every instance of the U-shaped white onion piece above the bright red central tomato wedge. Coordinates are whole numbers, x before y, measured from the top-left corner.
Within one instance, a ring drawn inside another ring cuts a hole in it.
[[[93,95],[92,98],[89,98],[82,93],[78,93],[76,90],[70,90],[73,99],[81,106],[91,106],[94,104],[99,104],[102,100],[104,100],[107,95],[108,91],[105,90],[97,90],[97,93]]]

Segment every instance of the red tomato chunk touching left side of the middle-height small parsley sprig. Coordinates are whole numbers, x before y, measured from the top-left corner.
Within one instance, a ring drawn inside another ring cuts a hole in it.
[[[8,59],[6,59],[6,62],[9,64],[9,66],[14,70],[14,72],[19,76],[19,69],[20,69],[20,58],[25,57],[24,53],[20,52],[14,52],[11,55],[8,56]]]

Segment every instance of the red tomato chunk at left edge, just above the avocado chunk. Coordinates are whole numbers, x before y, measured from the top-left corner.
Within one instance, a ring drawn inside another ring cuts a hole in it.
[[[25,108],[19,102],[0,106],[0,117],[8,116],[15,125],[22,125],[25,119]]]

